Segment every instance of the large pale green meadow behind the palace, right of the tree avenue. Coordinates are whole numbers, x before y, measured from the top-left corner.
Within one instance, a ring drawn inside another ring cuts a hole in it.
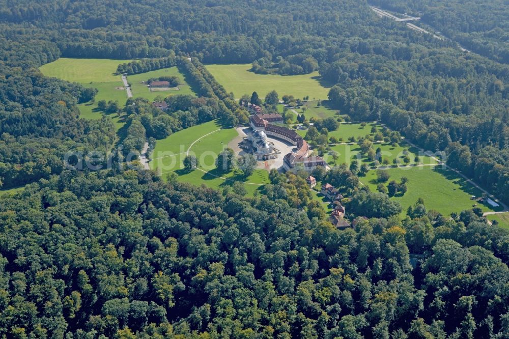
[[[227,92],[233,92],[237,99],[244,94],[251,95],[253,91],[264,98],[267,93],[276,90],[279,97],[288,94],[302,99],[308,95],[310,99],[325,100],[330,88],[329,84],[321,81],[318,72],[304,75],[256,74],[249,71],[251,64],[206,67]]]

